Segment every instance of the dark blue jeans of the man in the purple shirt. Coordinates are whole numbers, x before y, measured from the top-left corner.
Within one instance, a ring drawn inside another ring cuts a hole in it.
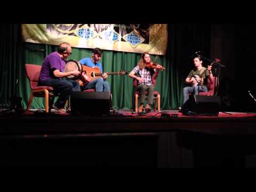
[[[54,94],[59,94],[58,100],[55,102],[57,108],[63,108],[73,91],[81,91],[77,81],[71,79],[46,79],[39,81],[38,86],[51,86],[54,89]]]

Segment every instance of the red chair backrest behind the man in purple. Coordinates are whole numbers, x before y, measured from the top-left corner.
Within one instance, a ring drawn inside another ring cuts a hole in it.
[[[41,71],[41,66],[39,65],[34,65],[34,64],[26,64],[26,74],[29,79],[30,87],[31,89],[34,89],[37,87],[40,71]]]

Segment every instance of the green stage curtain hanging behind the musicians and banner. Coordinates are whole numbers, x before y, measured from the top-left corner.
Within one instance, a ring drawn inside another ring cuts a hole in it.
[[[17,96],[22,98],[22,107],[27,107],[31,91],[26,77],[25,63],[42,65],[44,57],[57,49],[55,45],[22,42],[20,28],[21,25],[18,24],[0,26],[4,34],[0,37],[0,105],[2,107],[10,106],[10,98],[15,95],[15,88]],[[159,73],[155,87],[161,93],[162,110],[175,109],[182,105],[185,78],[193,67],[191,55],[198,50],[206,57],[210,54],[210,26],[169,25],[168,33],[166,55],[151,55],[151,59],[166,68]],[[73,48],[69,59],[80,60],[91,57],[91,51],[91,49]],[[139,59],[138,53],[104,50],[101,62],[104,72],[131,71],[137,66]],[[132,78],[127,75],[110,75],[107,81],[113,94],[113,107],[133,109]],[[44,108],[43,98],[34,98],[31,108]]]

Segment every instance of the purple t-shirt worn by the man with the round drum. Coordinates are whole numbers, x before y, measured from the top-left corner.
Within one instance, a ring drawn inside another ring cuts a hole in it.
[[[49,78],[57,78],[57,77],[54,77],[54,75],[50,73],[50,71],[52,71],[52,69],[55,68],[60,70],[61,72],[64,72],[65,65],[66,65],[66,61],[60,57],[57,51],[47,55],[46,58],[43,60],[43,65],[42,65],[41,73],[39,76],[39,80],[43,81]]]

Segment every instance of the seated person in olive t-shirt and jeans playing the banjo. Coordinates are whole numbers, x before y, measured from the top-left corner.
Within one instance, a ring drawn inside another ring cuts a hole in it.
[[[189,93],[198,95],[198,92],[207,92],[207,78],[213,82],[212,66],[203,67],[203,61],[200,56],[196,56],[193,61],[195,69],[190,71],[185,80],[189,86],[183,89],[183,103],[188,100]]]

